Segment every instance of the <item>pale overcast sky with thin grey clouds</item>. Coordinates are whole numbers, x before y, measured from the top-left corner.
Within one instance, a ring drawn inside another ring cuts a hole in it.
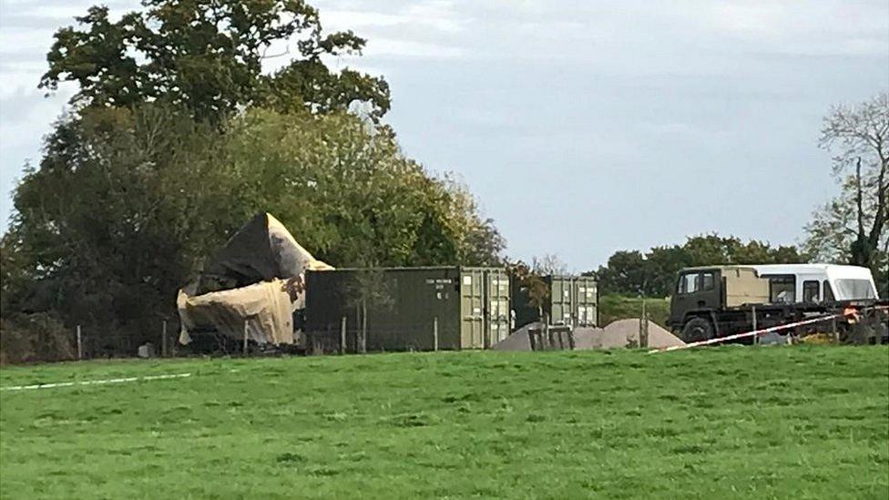
[[[0,0],[3,220],[72,92],[36,88],[52,34],[91,4]],[[578,271],[710,231],[798,242],[835,193],[821,118],[889,89],[887,0],[312,4],[368,38],[333,64],[386,77],[405,153],[462,176],[510,256]]]

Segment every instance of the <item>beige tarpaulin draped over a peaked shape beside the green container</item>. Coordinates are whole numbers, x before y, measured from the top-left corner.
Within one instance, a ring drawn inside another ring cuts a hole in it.
[[[242,340],[246,323],[253,342],[293,343],[293,311],[305,307],[305,271],[332,269],[303,249],[278,219],[258,214],[179,291],[179,342],[191,342],[194,332]]]

